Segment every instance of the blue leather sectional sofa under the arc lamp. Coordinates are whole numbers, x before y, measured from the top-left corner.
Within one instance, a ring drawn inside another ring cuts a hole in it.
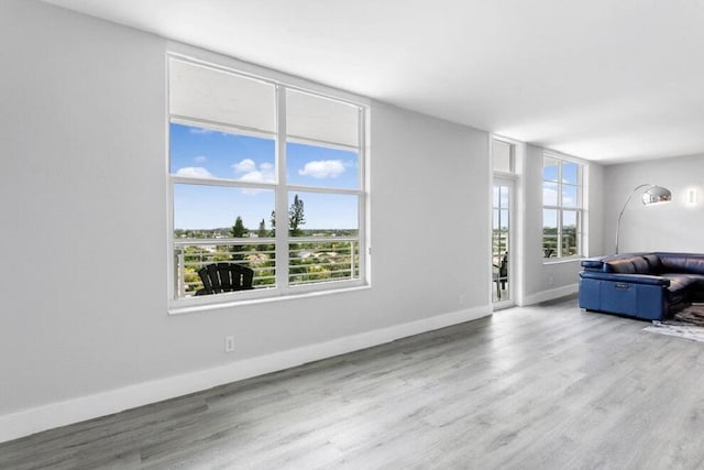
[[[580,307],[662,320],[704,302],[704,254],[626,253],[582,260]]]

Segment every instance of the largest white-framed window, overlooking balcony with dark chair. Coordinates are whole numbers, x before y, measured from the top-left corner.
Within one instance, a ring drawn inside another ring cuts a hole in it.
[[[346,98],[169,54],[170,307],[366,283],[365,120]],[[237,263],[251,289],[205,292]]]

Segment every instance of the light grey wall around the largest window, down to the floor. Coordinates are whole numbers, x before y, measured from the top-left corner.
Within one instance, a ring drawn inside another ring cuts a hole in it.
[[[375,102],[372,287],[167,315],[165,42],[25,0],[0,40],[0,440],[488,313],[488,135]]]

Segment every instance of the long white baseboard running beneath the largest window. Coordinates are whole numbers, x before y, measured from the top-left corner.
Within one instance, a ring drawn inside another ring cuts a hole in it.
[[[0,442],[490,315],[481,306],[0,416]]]

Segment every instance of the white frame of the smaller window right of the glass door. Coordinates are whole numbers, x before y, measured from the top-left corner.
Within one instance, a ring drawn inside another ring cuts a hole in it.
[[[541,198],[543,198],[542,200],[542,211],[540,212],[540,217],[542,220],[542,216],[544,214],[544,210],[556,210],[557,211],[557,243],[558,243],[558,252],[554,256],[550,256],[550,258],[543,258],[543,263],[544,264],[549,264],[549,263],[554,263],[554,262],[560,262],[560,261],[569,261],[569,260],[576,260],[576,259],[582,259],[584,258],[584,227],[585,227],[585,220],[584,220],[584,214],[585,214],[585,179],[586,179],[586,175],[587,175],[587,163],[584,161],[581,161],[579,159],[572,157],[572,156],[568,156],[561,153],[557,153],[557,152],[551,152],[551,151],[547,151],[543,153],[542,156],[542,168],[544,168],[544,162],[546,159],[551,159],[558,162],[558,176],[557,176],[557,182],[550,182],[550,183],[557,183],[558,185],[558,190],[557,190],[557,205],[546,205],[544,204],[544,193],[543,193],[543,185],[546,182],[548,182],[547,179],[544,179],[543,177],[543,172],[541,172],[541,184],[540,184],[540,190],[541,190]],[[576,184],[576,193],[578,193],[578,204],[576,207],[564,207],[562,204],[562,185],[563,185],[563,178],[562,178],[562,165],[563,163],[573,163],[579,165],[579,171],[578,171],[578,184]],[[563,247],[562,247],[562,234],[563,234],[563,230],[562,230],[562,219],[563,219],[563,211],[575,211],[576,212],[576,253],[575,254],[570,254],[570,255],[563,255]],[[543,233],[543,227],[544,223],[541,222],[541,233],[540,233],[540,245],[541,245],[541,250],[543,249],[543,242],[544,242],[544,233]]]

